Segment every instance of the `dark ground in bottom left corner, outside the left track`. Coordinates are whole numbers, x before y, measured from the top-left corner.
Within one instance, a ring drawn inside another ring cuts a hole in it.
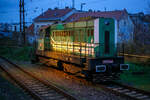
[[[4,79],[6,78],[6,79]],[[0,69],[0,100],[33,100]]]

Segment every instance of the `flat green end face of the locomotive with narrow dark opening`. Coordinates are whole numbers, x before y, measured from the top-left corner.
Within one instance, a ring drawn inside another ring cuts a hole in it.
[[[110,18],[99,19],[100,56],[112,57],[115,54],[115,24]]]

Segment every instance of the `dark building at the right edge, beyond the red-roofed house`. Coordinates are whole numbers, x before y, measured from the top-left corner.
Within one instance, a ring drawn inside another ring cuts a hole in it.
[[[150,15],[141,12],[130,17],[134,23],[134,42],[150,44]]]

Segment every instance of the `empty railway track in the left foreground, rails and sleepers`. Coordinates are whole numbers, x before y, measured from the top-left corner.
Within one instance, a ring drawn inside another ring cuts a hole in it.
[[[38,79],[7,59],[0,58],[0,67],[35,100],[77,100],[62,89]]]

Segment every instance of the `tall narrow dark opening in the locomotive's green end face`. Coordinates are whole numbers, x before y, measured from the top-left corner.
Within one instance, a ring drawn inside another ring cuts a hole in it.
[[[110,41],[110,32],[105,31],[105,54],[109,54],[109,41]]]

